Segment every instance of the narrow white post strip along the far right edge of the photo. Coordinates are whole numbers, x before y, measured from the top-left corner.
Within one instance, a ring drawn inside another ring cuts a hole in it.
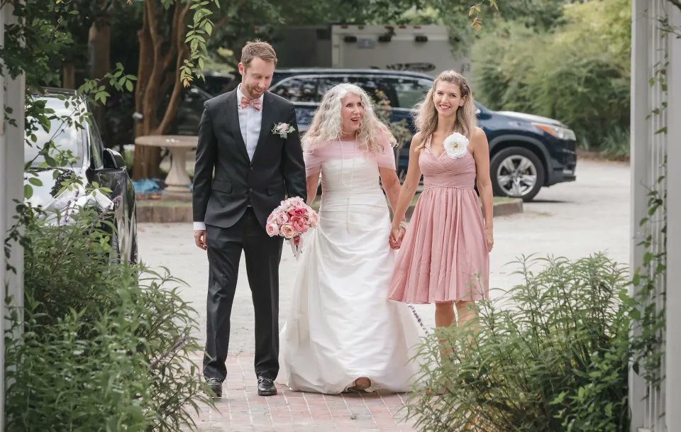
[[[669,5],[670,23],[681,26],[681,11]],[[681,431],[681,39],[669,40],[667,189],[667,430]]]

